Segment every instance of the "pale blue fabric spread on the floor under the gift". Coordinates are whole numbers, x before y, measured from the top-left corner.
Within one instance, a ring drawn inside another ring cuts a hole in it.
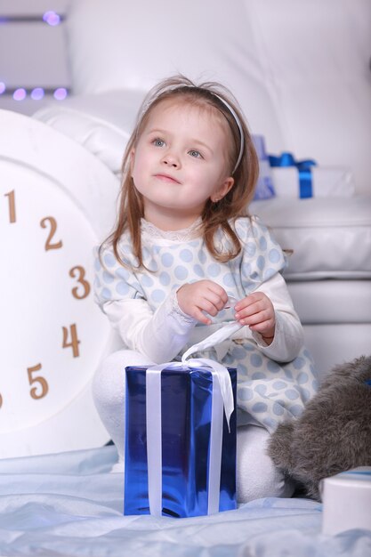
[[[114,447],[0,460],[0,554],[63,557],[367,557],[371,531],[321,534],[321,505],[258,499],[191,519],[123,516]]]

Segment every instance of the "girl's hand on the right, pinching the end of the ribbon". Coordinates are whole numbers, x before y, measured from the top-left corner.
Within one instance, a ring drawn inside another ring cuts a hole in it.
[[[265,343],[274,338],[276,318],[270,298],[263,292],[254,292],[235,305],[235,319],[262,335]]]

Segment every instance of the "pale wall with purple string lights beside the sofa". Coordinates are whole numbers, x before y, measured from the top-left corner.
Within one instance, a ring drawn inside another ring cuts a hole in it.
[[[48,11],[63,17],[68,5],[69,0],[0,0],[0,83],[7,87],[0,94],[0,109],[32,114],[53,99],[55,89],[69,88],[63,20],[53,27],[43,20]],[[18,87],[28,92],[24,101],[12,98]],[[35,87],[50,93],[32,100]]]

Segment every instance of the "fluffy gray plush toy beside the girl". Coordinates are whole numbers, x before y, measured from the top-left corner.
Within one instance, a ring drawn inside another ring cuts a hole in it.
[[[320,500],[320,481],[371,466],[371,356],[334,367],[302,416],[280,424],[269,455],[306,496]]]

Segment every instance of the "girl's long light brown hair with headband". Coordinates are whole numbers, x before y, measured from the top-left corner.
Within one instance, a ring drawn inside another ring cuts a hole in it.
[[[148,122],[149,115],[160,102],[165,100],[179,100],[212,108],[222,113],[230,130],[230,145],[228,149],[228,165],[230,175],[233,174],[234,184],[227,195],[217,202],[207,199],[201,215],[201,231],[208,251],[217,261],[227,262],[236,257],[241,251],[241,245],[234,227],[231,226],[238,217],[247,216],[247,206],[254,197],[254,186],[257,181],[259,166],[254,143],[247,129],[244,117],[238,108],[238,103],[228,89],[214,82],[195,85],[187,77],[181,75],[169,77],[151,89],[144,99],[137,123],[127,142],[122,171],[123,178],[119,196],[118,216],[115,229],[109,238],[103,242],[101,248],[108,244],[113,247],[118,262],[125,265],[119,253],[118,244],[123,233],[128,230],[132,239],[133,254],[137,259],[138,268],[143,267],[141,253],[141,218],[144,216],[144,205],[141,193],[135,188],[131,174],[131,153],[136,147],[141,133]],[[227,104],[225,104],[227,102]],[[230,108],[235,111],[236,117]],[[243,138],[241,138],[243,133]],[[240,153],[241,145],[243,147]],[[238,166],[238,155],[241,155]],[[233,170],[234,169],[234,170]],[[231,240],[230,249],[221,252],[214,244],[214,235],[222,229]]]

